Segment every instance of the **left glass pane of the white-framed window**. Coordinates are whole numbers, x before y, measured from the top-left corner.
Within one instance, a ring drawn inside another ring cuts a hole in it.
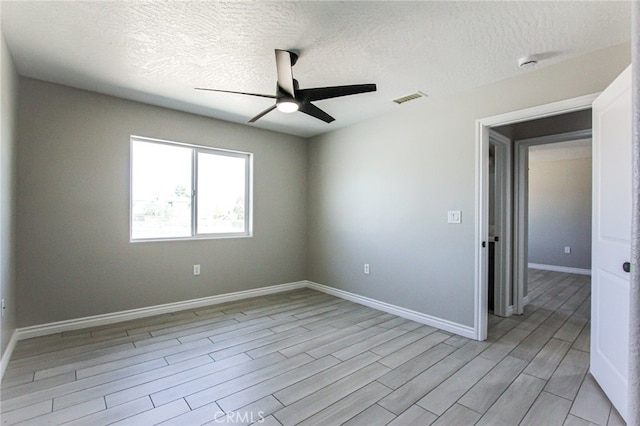
[[[191,235],[190,148],[134,141],[131,239]]]

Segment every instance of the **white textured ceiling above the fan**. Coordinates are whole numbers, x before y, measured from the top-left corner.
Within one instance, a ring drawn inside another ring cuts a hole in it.
[[[568,2],[7,1],[2,32],[21,75],[246,123],[272,101],[274,49],[300,54],[300,87],[376,83],[317,102],[336,118],[274,111],[254,126],[312,136],[630,40],[630,4]],[[407,104],[409,105],[409,104]]]

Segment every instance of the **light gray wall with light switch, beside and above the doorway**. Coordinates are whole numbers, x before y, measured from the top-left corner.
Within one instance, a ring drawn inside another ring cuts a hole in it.
[[[598,92],[629,62],[625,44],[313,138],[309,279],[472,327],[476,120]]]

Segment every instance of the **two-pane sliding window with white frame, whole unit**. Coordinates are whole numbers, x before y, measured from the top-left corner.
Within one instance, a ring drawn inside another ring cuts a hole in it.
[[[251,235],[251,154],[131,138],[131,241]]]

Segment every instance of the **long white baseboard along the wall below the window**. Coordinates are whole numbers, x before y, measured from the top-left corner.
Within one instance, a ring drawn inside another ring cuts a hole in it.
[[[101,325],[114,324],[122,321],[151,317],[154,315],[183,311],[185,309],[196,309],[204,306],[217,305],[234,300],[248,299],[251,297],[264,296],[267,294],[281,293],[283,291],[295,290],[306,286],[305,281],[298,281],[288,284],[279,284],[269,287],[261,287],[253,290],[236,291],[233,293],[220,294],[217,296],[202,297],[199,299],[184,300],[181,302],[166,303],[163,305],[150,306],[147,308],[131,309],[128,311],[113,312],[110,314],[94,315],[90,317],[77,318],[67,321],[58,321],[31,327],[19,328],[16,330],[18,340],[29,339],[31,337],[45,336],[47,334],[62,333],[65,331],[79,330],[88,327],[98,327]]]

